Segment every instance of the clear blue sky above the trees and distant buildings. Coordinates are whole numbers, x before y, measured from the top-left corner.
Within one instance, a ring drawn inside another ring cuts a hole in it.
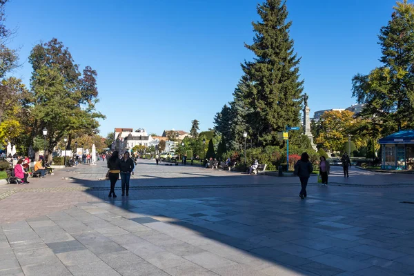
[[[232,99],[252,59],[251,22],[257,0],[12,0],[7,26],[17,28],[10,47],[20,46],[28,84],[28,55],[39,41],[56,37],[76,63],[98,72],[100,103],[106,115],[101,135],[115,127],[190,129],[213,127],[213,117]],[[346,108],[351,78],[379,64],[377,34],[391,17],[394,0],[288,0],[290,36],[302,57],[311,112]]]

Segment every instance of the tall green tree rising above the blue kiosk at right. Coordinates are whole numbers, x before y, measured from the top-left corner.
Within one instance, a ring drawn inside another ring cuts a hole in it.
[[[404,0],[394,7],[391,20],[380,30],[382,66],[369,75],[353,77],[353,97],[364,103],[362,116],[371,119],[369,132],[377,126],[385,136],[400,128],[414,128],[414,4]]]

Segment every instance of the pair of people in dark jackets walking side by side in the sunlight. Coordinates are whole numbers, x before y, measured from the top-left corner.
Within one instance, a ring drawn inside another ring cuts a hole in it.
[[[129,152],[125,152],[124,157],[119,159],[119,152],[112,152],[111,157],[108,159],[108,168],[109,173],[108,177],[110,180],[110,192],[108,197],[117,197],[115,195],[115,184],[119,179],[119,174],[121,174],[121,188],[122,196],[129,195],[129,184],[131,173],[134,174],[134,161],[130,158]]]

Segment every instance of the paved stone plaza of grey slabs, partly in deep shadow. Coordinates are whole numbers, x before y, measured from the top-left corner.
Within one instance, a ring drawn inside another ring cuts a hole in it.
[[[103,162],[0,186],[0,275],[414,274],[414,175],[334,168],[301,200],[296,177],[154,163],[129,197]]]

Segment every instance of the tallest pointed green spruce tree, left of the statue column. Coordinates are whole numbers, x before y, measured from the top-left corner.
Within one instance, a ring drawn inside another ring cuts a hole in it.
[[[299,81],[300,58],[294,53],[289,37],[286,2],[267,0],[257,6],[262,21],[253,24],[253,44],[245,44],[255,53],[253,61],[242,64],[242,99],[253,109],[246,113],[250,135],[257,146],[279,144],[277,132],[298,126],[304,81]]]

